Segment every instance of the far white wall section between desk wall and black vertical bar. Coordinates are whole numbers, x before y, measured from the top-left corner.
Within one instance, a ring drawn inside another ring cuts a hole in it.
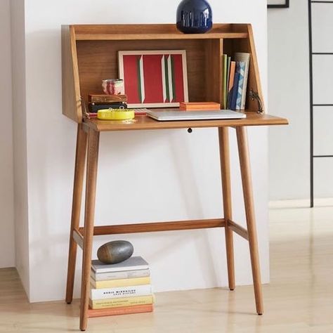
[[[304,199],[310,193],[308,61],[308,1],[268,9],[269,113],[290,123],[269,129],[270,200]]]

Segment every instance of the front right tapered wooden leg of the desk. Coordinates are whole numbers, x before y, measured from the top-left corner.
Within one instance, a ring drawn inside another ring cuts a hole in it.
[[[263,314],[263,296],[261,292],[261,276],[259,265],[258,240],[256,237],[256,220],[254,217],[254,201],[252,179],[249,162],[249,148],[247,145],[247,131],[241,126],[236,128],[238,153],[240,155],[240,172],[244,194],[245,214],[247,218],[247,232],[249,234],[249,251],[251,256],[254,296],[256,298],[256,312]]]

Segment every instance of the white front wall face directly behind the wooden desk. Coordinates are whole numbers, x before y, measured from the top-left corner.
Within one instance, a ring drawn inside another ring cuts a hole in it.
[[[63,299],[65,293],[76,125],[61,115],[60,25],[174,22],[178,2],[25,1],[30,301]],[[215,22],[254,25],[266,93],[265,2],[210,3]],[[249,132],[261,268],[268,282],[267,130]],[[102,133],[97,224],[221,216],[216,139],[215,129],[197,129],[191,135],[185,130]],[[234,136],[232,150],[234,215],[244,221]],[[155,291],[227,285],[219,230],[99,237],[94,254],[102,242],[119,238],[133,242],[135,254],[150,262]],[[250,284],[247,242],[235,236],[235,247],[237,283]],[[77,276],[76,296],[78,291]]]

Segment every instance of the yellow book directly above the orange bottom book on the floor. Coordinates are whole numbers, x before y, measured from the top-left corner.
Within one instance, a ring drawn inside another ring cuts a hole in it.
[[[122,299],[89,299],[89,306],[93,309],[98,308],[117,308],[118,306],[135,306],[154,303],[152,295],[124,297]]]

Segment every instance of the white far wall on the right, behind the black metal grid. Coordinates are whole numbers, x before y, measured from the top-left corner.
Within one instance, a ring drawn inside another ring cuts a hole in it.
[[[332,4],[313,4],[313,51],[332,52]],[[283,22],[283,25],[281,24]],[[332,56],[313,59],[314,102],[333,103]],[[289,119],[269,130],[270,200],[310,195],[308,1],[268,10],[269,112]],[[332,107],[314,108],[314,153],[333,154]],[[314,163],[315,197],[333,197],[333,159]]]

